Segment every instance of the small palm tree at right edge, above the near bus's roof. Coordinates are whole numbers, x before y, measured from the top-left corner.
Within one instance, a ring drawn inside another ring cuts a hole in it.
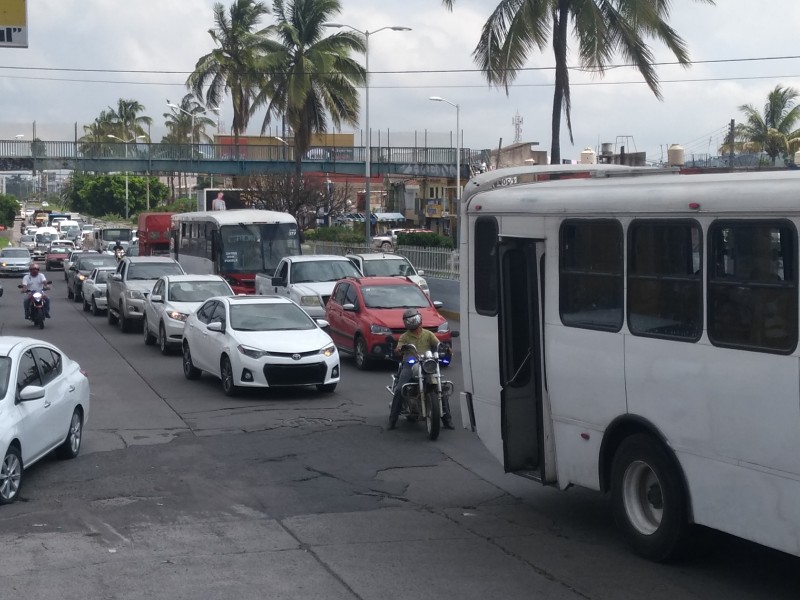
[[[737,140],[765,152],[774,165],[778,156],[800,143],[800,129],[795,129],[800,120],[800,105],[795,105],[798,96],[794,88],[777,85],[767,95],[763,115],[752,104],[740,106],[746,120],[736,126]]]

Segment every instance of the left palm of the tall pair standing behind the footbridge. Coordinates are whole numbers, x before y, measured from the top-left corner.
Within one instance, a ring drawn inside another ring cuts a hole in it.
[[[215,27],[208,33],[217,47],[197,60],[194,72],[186,81],[186,86],[195,96],[203,98],[205,95],[208,106],[219,106],[230,92],[233,101],[232,132],[237,145],[250,121],[254,64],[265,51],[264,30],[256,28],[261,17],[268,13],[266,5],[255,0],[234,0],[229,14],[225,13],[221,3],[215,4]]]

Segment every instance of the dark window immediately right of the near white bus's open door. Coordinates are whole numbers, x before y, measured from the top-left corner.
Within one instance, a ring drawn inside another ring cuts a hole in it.
[[[569,219],[559,239],[559,311],[569,327],[619,331],[623,314],[622,226]]]

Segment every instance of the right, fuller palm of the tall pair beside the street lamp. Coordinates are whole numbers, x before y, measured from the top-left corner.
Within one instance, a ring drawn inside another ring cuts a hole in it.
[[[366,49],[354,32],[324,36],[325,23],[341,12],[339,0],[274,0],[276,23],[267,28],[268,52],[259,62],[265,74],[252,112],[266,107],[261,132],[273,119],[285,118],[294,132],[295,170],[299,175],[311,135],[357,125],[357,86],[366,70],[350,58]]]

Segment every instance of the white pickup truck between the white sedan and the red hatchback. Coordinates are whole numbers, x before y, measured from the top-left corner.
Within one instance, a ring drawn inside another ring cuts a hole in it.
[[[344,256],[312,254],[287,256],[274,275],[256,273],[256,294],[286,296],[297,302],[310,317],[325,317],[336,282],[344,277],[361,277],[361,272]]]

